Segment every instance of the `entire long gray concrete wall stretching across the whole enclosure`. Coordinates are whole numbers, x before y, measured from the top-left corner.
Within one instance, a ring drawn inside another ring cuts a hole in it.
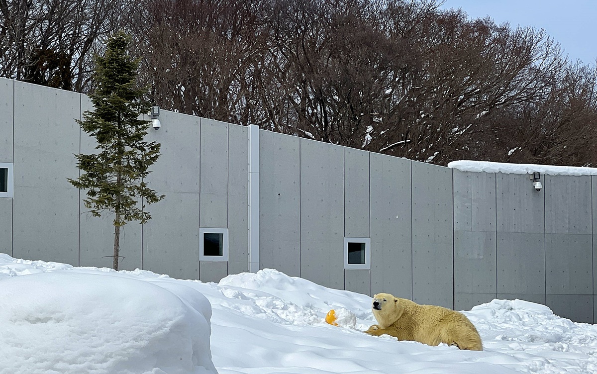
[[[0,162],[14,197],[0,198],[0,252],[111,266],[110,217],[86,212],[66,178],[73,153],[96,143],[74,119],[85,95],[0,79]],[[146,206],[127,224],[121,268],[218,281],[248,270],[247,128],[163,111]],[[460,172],[259,131],[260,267],[324,286],[466,310],[493,298],[597,320],[597,176]],[[141,202],[140,202],[141,204]],[[199,228],[229,233],[227,261],[199,261]],[[370,268],[344,268],[344,237],[370,238]]]

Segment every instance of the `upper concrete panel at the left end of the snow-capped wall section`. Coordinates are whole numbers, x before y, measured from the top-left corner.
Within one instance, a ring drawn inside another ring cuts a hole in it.
[[[454,231],[496,231],[496,174],[454,169]]]

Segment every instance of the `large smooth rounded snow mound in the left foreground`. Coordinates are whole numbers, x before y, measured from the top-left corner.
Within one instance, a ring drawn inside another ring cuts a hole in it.
[[[196,290],[29,265],[0,267],[29,274],[0,278],[0,373],[217,373],[211,307]]]

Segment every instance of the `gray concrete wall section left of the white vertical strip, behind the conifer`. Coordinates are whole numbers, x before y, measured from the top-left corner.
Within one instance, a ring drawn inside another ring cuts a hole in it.
[[[91,101],[8,79],[0,97],[0,162],[16,165],[14,198],[0,199],[0,251],[111,267],[113,218],[93,217],[67,181],[79,175],[73,154],[97,152],[75,122]],[[162,146],[146,181],[166,197],[144,208],[149,222],[121,228],[121,268],[205,281],[247,271],[247,128],[163,110],[160,120],[147,134]],[[200,225],[229,230],[229,261],[199,261]]]

